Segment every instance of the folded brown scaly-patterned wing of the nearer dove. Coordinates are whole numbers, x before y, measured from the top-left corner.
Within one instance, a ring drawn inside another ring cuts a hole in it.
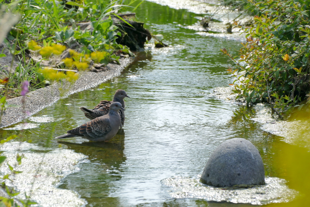
[[[111,125],[109,119],[106,117],[99,117],[82,124],[78,128],[71,129],[67,133],[96,138],[103,137],[110,131]]]

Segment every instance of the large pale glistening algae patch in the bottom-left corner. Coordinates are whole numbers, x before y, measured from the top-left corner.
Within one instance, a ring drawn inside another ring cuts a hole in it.
[[[78,193],[57,186],[61,179],[79,170],[78,164],[86,157],[68,149],[49,149],[27,142],[7,142],[0,146],[2,156],[7,159],[0,166],[2,174],[11,174],[10,164],[16,171],[6,180],[8,186],[20,191],[16,197],[25,199],[24,194],[43,207],[75,207],[86,204]],[[43,152],[43,150],[45,152]],[[46,152],[47,150],[50,150]],[[42,151],[42,152],[40,152]],[[18,165],[16,155],[24,155]]]

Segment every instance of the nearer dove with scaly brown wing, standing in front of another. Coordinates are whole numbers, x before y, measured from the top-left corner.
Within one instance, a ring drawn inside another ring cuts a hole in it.
[[[119,110],[125,109],[120,102],[113,102],[109,106],[108,114],[92,119],[78,128],[68,130],[66,134],[55,138],[61,139],[79,136],[94,142],[108,141],[116,135],[121,124]]]

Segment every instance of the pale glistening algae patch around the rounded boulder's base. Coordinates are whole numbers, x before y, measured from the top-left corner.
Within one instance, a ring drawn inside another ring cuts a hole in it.
[[[162,180],[162,184],[168,186],[170,195],[177,199],[195,198],[252,205],[289,202],[298,194],[298,191],[288,188],[286,180],[281,178],[266,177],[266,185],[229,190],[203,185],[199,179],[200,175],[196,178],[171,177]]]

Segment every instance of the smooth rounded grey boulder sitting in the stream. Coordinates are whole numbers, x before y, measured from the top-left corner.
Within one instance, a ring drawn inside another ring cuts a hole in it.
[[[263,185],[265,171],[262,157],[246,139],[227,140],[210,156],[200,181],[215,187]]]

